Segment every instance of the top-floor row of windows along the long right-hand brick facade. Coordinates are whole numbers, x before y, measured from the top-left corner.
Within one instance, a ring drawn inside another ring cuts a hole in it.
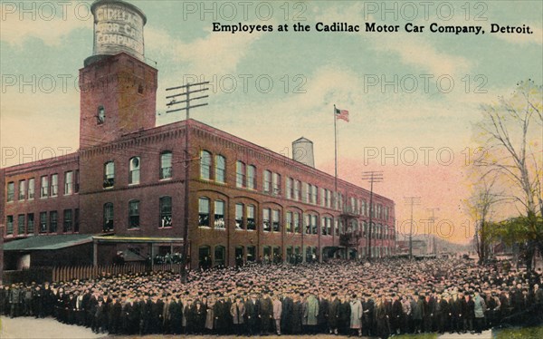
[[[215,155],[208,151],[200,152],[200,178],[214,180],[219,183],[225,183],[226,178],[226,160],[222,155]],[[281,174],[265,169],[262,172],[262,192],[273,196],[281,196]],[[238,160],[235,163],[235,186],[240,189],[257,189],[256,167],[246,165]],[[332,208],[333,196],[332,190],[324,189],[302,182],[297,179],[286,178],[285,194],[287,199],[302,201],[308,204],[320,205],[325,208]],[[338,193],[338,199],[334,208],[343,210],[345,197]],[[347,210],[362,216],[369,216],[369,205],[366,200],[350,198],[350,205]],[[389,208],[381,204],[374,204],[372,208],[373,217],[388,220]]]

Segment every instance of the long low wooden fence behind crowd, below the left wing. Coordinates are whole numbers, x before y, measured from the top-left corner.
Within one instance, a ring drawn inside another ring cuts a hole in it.
[[[45,281],[52,283],[70,281],[74,279],[95,279],[102,276],[117,276],[124,274],[142,274],[149,272],[172,271],[181,273],[181,264],[162,264],[150,266],[148,264],[124,264],[110,266],[62,266],[62,267],[38,267],[24,271],[5,271],[5,284],[36,282],[42,284]]]

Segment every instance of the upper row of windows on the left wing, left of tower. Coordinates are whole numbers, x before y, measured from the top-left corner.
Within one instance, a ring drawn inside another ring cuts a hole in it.
[[[17,185],[17,200],[32,200],[35,196],[35,179],[19,180]],[[63,194],[65,196],[79,192],[79,170],[69,170],[64,172]],[[59,195],[59,175],[54,173],[50,176],[42,176],[40,178],[40,198],[58,197]],[[10,181],[7,183],[6,201],[13,202],[15,200],[15,183]]]

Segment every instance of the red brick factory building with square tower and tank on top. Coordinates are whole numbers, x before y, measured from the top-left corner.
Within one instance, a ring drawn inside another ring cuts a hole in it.
[[[80,150],[0,170],[5,269],[108,265],[120,254],[138,261],[185,245],[193,268],[366,255],[369,191],[315,169],[304,138],[293,142],[304,157],[293,160],[195,120],[157,127],[145,15],[118,0],[95,2],[92,13]],[[119,39],[108,20],[126,20],[133,34],[111,44]],[[386,257],[395,250],[395,205],[373,201],[372,257]]]

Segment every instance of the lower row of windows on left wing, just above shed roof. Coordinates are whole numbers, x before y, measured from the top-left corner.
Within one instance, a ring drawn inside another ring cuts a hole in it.
[[[14,219],[14,216],[7,216],[5,222],[5,235],[13,236],[15,230],[16,221],[16,235],[17,236],[30,236],[33,235],[35,230],[35,222],[38,222],[38,233],[59,233],[59,212],[52,210],[49,212],[40,212],[39,218],[34,219],[34,213],[19,214]],[[62,211],[62,233],[77,233],[79,232],[79,208],[64,209]]]

